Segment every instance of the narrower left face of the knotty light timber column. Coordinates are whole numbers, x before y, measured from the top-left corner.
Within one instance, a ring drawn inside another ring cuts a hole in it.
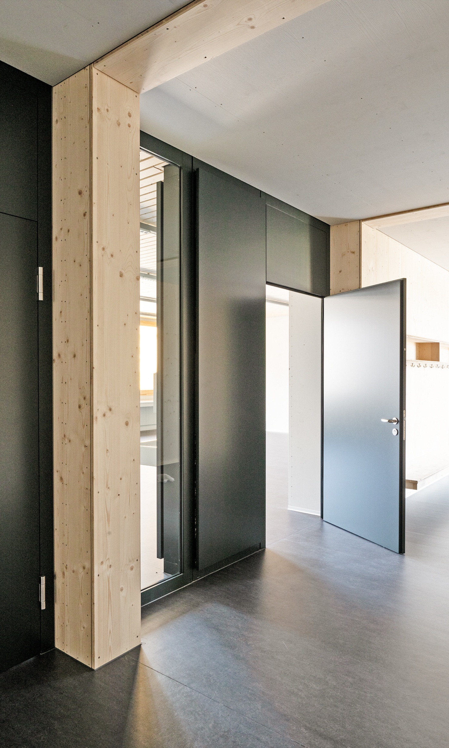
[[[55,644],[91,666],[89,69],[53,89]]]

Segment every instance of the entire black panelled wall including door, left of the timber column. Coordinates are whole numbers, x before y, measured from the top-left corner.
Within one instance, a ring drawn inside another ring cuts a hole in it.
[[[8,294],[13,292],[13,298],[3,313],[2,334],[6,337],[1,346],[4,371],[2,407],[10,408],[10,412],[16,414],[15,423],[4,422],[1,436],[4,469],[1,471],[0,524],[6,530],[7,521],[13,521],[11,512],[16,512],[16,518],[22,512],[23,520],[17,521],[15,530],[10,530],[4,541],[12,544],[9,554],[6,545],[2,545],[7,567],[2,568],[1,574],[5,592],[0,660],[2,666],[7,666],[29,657],[31,651],[52,648],[55,638],[52,584],[52,88],[3,62],[0,62],[0,132],[0,250],[4,270],[1,282],[5,284],[1,298],[4,303]],[[44,301],[39,302],[36,295],[37,265],[43,266],[44,272]],[[12,291],[13,281],[16,286]],[[13,304],[18,305],[17,308]],[[12,310],[14,313],[8,324],[16,325],[16,328],[10,328],[8,337],[5,325]],[[31,315],[32,321],[30,317],[25,324],[22,317],[27,314]],[[7,372],[13,370],[11,367],[18,369],[8,380]],[[25,511],[27,501],[29,506]],[[18,560],[14,557],[17,550]],[[36,554],[37,566],[34,568]],[[42,611],[38,599],[41,574],[46,576],[46,610]],[[26,614],[23,613],[24,595],[31,606]],[[11,637],[19,634],[20,622],[25,630],[22,640],[14,644]]]

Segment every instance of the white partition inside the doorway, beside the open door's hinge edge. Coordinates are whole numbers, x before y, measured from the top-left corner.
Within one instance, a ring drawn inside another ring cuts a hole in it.
[[[288,508],[321,513],[321,306],[290,291]]]

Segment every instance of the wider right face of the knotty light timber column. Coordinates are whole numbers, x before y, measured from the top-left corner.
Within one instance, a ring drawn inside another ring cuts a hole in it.
[[[94,666],[140,642],[139,101],[92,67]]]

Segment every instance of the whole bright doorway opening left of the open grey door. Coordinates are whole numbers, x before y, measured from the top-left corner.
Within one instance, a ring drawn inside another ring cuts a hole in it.
[[[321,455],[322,299],[267,285],[267,545],[321,516]]]

